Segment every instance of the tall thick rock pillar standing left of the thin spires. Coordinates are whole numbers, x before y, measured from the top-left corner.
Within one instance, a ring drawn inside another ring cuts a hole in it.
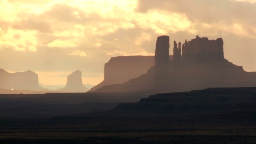
[[[155,48],[155,67],[166,67],[169,64],[170,38],[167,35],[157,37]]]

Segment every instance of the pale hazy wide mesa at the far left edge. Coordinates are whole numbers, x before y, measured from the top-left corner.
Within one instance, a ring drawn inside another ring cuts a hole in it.
[[[45,90],[38,85],[38,75],[32,71],[9,73],[0,69],[0,88],[15,90]]]

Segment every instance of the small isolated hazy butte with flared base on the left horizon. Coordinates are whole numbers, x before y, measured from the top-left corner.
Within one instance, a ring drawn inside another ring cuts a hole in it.
[[[57,91],[83,93],[88,90],[89,89],[83,85],[82,72],[77,70],[67,77],[66,87],[58,89]]]

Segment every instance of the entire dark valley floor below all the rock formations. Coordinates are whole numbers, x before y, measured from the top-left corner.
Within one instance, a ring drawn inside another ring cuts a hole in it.
[[[0,95],[0,144],[256,144],[256,88],[146,95]]]

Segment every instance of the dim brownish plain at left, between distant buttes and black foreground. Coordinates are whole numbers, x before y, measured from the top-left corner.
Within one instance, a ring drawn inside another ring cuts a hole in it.
[[[0,94],[0,119],[72,116],[113,109],[136,102],[148,93],[46,93]]]

